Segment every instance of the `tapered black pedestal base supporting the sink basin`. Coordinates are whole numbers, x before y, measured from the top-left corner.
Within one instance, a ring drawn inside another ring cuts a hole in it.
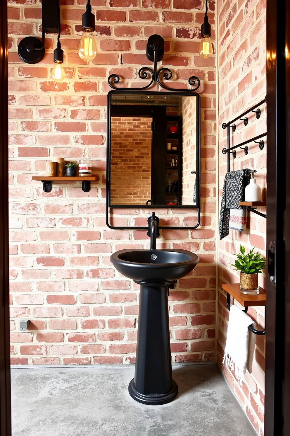
[[[168,317],[168,283],[140,284],[135,376],[129,384],[131,397],[143,404],[172,401],[178,386],[172,379]]]

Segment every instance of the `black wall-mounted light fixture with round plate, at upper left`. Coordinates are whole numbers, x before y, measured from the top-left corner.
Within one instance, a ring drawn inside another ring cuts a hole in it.
[[[27,64],[37,64],[45,54],[45,34],[58,33],[60,35],[60,3],[59,0],[42,0],[42,41],[35,36],[27,36],[18,44],[18,54]],[[59,37],[57,50],[60,50]],[[62,50],[61,50],[62,51]],[[62,51],[63,52],[63,51]],[[56,54],[57,60],[61,61],[61,53]],[[56,57],[55,55],[53,58]],[[63,56],[63,54],[62,54]],[[63,57],[62,57],[63,62]]]

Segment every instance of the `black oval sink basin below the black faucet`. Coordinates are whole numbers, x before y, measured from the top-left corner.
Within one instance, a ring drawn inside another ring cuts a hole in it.
[[[113,253],[110,261],[123,276],[143,283],[164,283],[180,279],[193,270],[199,257],[181,249],[135,249]]]

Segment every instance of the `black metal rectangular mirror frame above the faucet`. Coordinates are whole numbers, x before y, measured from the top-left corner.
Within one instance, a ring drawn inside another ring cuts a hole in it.
[[[110,204],[110,197],[111,197],[111,191],[110,191],[110,184],[111,184],[111,174],[110,174],[110,157],[111,157],[111,95],[124,95],[124,91],[126,91],[126,94],[130,95],[148,95],[149,92],[142,92],[137,90],[131,90],[125,88],[124,90],[113,90],[108,92],[107,96],[107,180],[106,180],[106,225],[107,227],[114,229],[114,230],[147,230],[147,226],[113,226],[109,223],[109,209],[118,209],[118,208],[148,208],[148,211],[150,209],[156,209],[156,208],[172,208],[172,209],[197,209],[197,225],[195,226],[159,226],[161,229],[194,229],[199,227],[200,225],[200,95],[196,92],[188,94],[187,92],[179,91],[179,92],[158,92],[158,91],[152,91],[150,92],[150,95],[177,95],[177,96],[193,96],[197,98],[197,112],[196,112],[196,123],[197,123],[197,174],[196,174],[196,204],[195,205],[182,205],[182,204],[176,204],[176,205],[168,205],[168,204],[142,204],[142,205],[115,205]]]

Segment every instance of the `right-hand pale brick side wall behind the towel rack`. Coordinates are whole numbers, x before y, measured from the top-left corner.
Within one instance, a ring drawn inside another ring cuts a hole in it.
[[[266,1],[244,0],[239,2],[220,1],[219,15],[219,109],[220,109],[220,197],[224,175],[227,172],[227,157],[221,153],[227,147],[227,131],[222,129],[224,122],[230,121],[266,95]],[[236,145],[267,131],[266,105],[260,106],[261,117],[256,119],[249,114],[248,126],[243,121],[236,122],[237,130],[231,136],[231,144]],[[265,138],[263,138],[265,140]],[[267,141],[265,140],[265,144]],[[237,158],[230,159],[230,169],[253,168],[257,170],[257,183],[262,187],[262,200],[266,199],[266,149],[261,151],[258,144],[250,143],[249,154],[237,149]],[[265,213],[265,208],[259,209]],[[230,230],[230,234],[219,242],[219,314],[218,314],[218,351],[217,362],[230,387],[245,410],[250,422],[257,432],[263,435],[264,409],[264,370],[265,337],[256,336],[256,347],[252,374],[248,371],[242,387],[234,374],[222,364],[223,350],[227,334],[226,294],[221,289],[222,283],[238,283],[239,274],[233,271],[229,263],[240,249],[240,244],[247,250],[253,246],[266,255],[266,219],[249,212],[247,229],[244,232]],[[265,287],[265,276],[259,274],[260,286]],[[239,306],[238,303],[235,302]],[[256,321],[257,328],[264,327],[264,308],[253,307],[248,315]]]

